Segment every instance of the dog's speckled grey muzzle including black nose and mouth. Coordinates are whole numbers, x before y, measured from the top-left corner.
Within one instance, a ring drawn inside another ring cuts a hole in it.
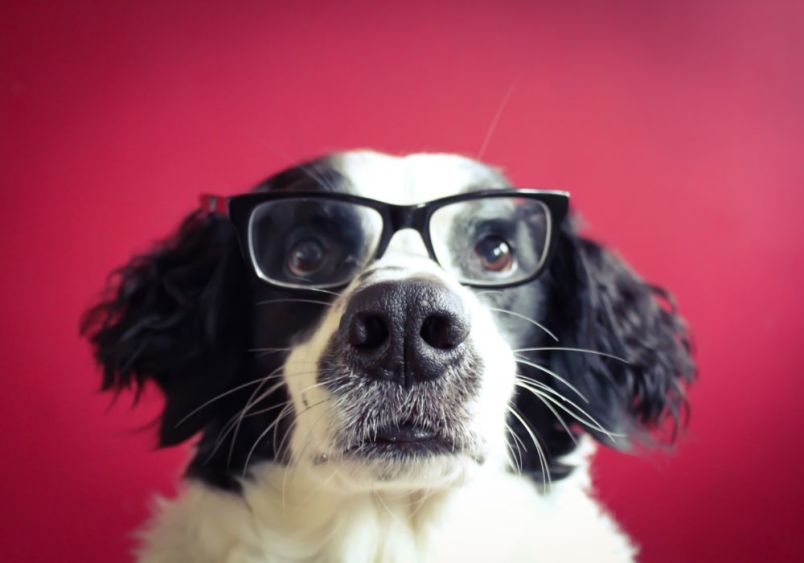
[[[464,299],[426,274],[364,282],[344,296],[318,362],[319,380],[337,397],[336,450],[403,463],[477,454],[471,413],[483,361]]]

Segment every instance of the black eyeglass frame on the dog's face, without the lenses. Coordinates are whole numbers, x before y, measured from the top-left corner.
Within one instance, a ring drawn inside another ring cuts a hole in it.
[[[542,274],[550,263],[556,243],[558,241],[558,233],[561,228],[561,223],[567,216],[569,211],[569,192],[560,190],[542,190],[534,188],[501,188],[493,190],[480,190],[476,192],[466,192],[462,194],[452,195],[439,199],[434,199],[424,203],[417,203],[413,205],[397,205],[393,203],[386,203],[376,199],[367,197],[346,194],[341,192],[317,192],[317,191],[266,191],[266,192],[253,192],[248,194],[241,194],[236,196],[217,196],[211,194],[204,194],[201,196],[201,209],[209,214],[217,214],[228,217],[235,227],[237,238],[240,243],[240,250],[243,253],[243,258],[251,264],[254,273],[262,281],[285,289],[305,289],[303,284],[299,285],[284,285],[274,280],[267,278],[260,270],[260,267],[251,255],[251,243],[249,241],[249,222],[252,213],[261,204],[270,201],[279,201],[286,199],[303,199],[311,198],[323,201],[340,201],[345,203],[352,203],[363,207],[368,207],[375,210],[380,214],[383,220],[382,233],[380,240],[377,244],[377,249],[374,256],[370,261],[382,258],[391,238],[397,231],[402,229],[414,229],[422,237],[424,246],[430,259],[436,264],[439,263],[433,248],[433,241],[430,238],[430,219],[433,214],[440,208],[464,201],[472,201],[476,199],[493,199],[493,198],[510,198],[516,197],[521,199],[530,199],[542,203],[548,210],[549,215],[549,228],[547,230],[547,241],[545,243],[544,255],[542,256],[538,267],[533,274],[526,278],[518,279],[512,282],[463,282],[461,284],[472,288],[495,288],[505,289],[508,287],[515,287],[523,285],[535,280]],[[341,284],[332,286],[320,286],[327,289],[346,287],[354,278]],[[310,286],[319,287],[319,286]]]

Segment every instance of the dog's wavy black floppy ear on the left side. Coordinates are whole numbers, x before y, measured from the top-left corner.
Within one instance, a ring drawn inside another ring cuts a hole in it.
[[[177,444],[215,414],[204,409],[243,367],[249,317],[244,266],[228,220],[193,213],[178,232],[117,270],[81,333],[103,368],[103,390],[153,380],[165,395],[159,443]],[[203,416],[206,414],[206,416]]]

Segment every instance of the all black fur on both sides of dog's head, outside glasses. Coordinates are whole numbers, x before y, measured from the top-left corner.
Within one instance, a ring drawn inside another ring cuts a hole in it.
[[[348,186],[322,159],[273,176],[257,189],[348,190]],[[84,316],[82,332],[103,367],[102,388],[141,390],[154,381],[165,395],[160,446],[200,434],[188,475],[237,489],[250,454],[252,463],[282,457],[281,438],[287,427],[276,430],[278,442],[259,437],[287,401],[283,387],[260,403],[261,414],[242,420],[237,440],[226,433],[226,424],[252,397],[256,384],[246,384],[284,362],[284,353],[254,349],[291,346],[320,318],[321,305],[276,301],[294,296],[298,292],[256,279],[227,220],[192,214],[173,237],[118,270],[107,296]],[[589,404],[549,375],[520,366],[523,374],[575,399],[612,432],[645,440],[669,421],[669,437],[675,435],[686,409],[684,385],[694,376],[684,324],[666,293],[641,281],[611,253],[567,224],[541,279],[482,298],[528,311],[559,338],[552,343],[531,326],[523,330],[512,319],[501,318],[510,333],[518,335],[514,347],[587,348],[627,360],[563,351],[529,356],[564,376],[591,399]],[[272,303],[258,305],[268,300]],[[571,469],[557,459],[572,450],[572,437],[533,395],[518,391],[515,407],[539,435],[551,477],[567,475]],[[536,452],[527,448],[530,438],[519,421],[509,423],[526,446],[522,470],[541,480]],[[613,443],[588,425],[576,423],[572,430],[575,435],[589,432],[610,446],[625,448],[631,443],[625,439]]]

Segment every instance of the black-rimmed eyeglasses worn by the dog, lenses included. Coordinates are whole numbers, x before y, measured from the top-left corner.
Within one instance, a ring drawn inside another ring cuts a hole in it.
[[[470,287],[535,279],[547,265],[569,194],[506,188],[394,205],[331,192],[204,195],[228,216],[262,280],[286,288],[336,288],[382,257],[394,233],[419,232],[430,258]]]

